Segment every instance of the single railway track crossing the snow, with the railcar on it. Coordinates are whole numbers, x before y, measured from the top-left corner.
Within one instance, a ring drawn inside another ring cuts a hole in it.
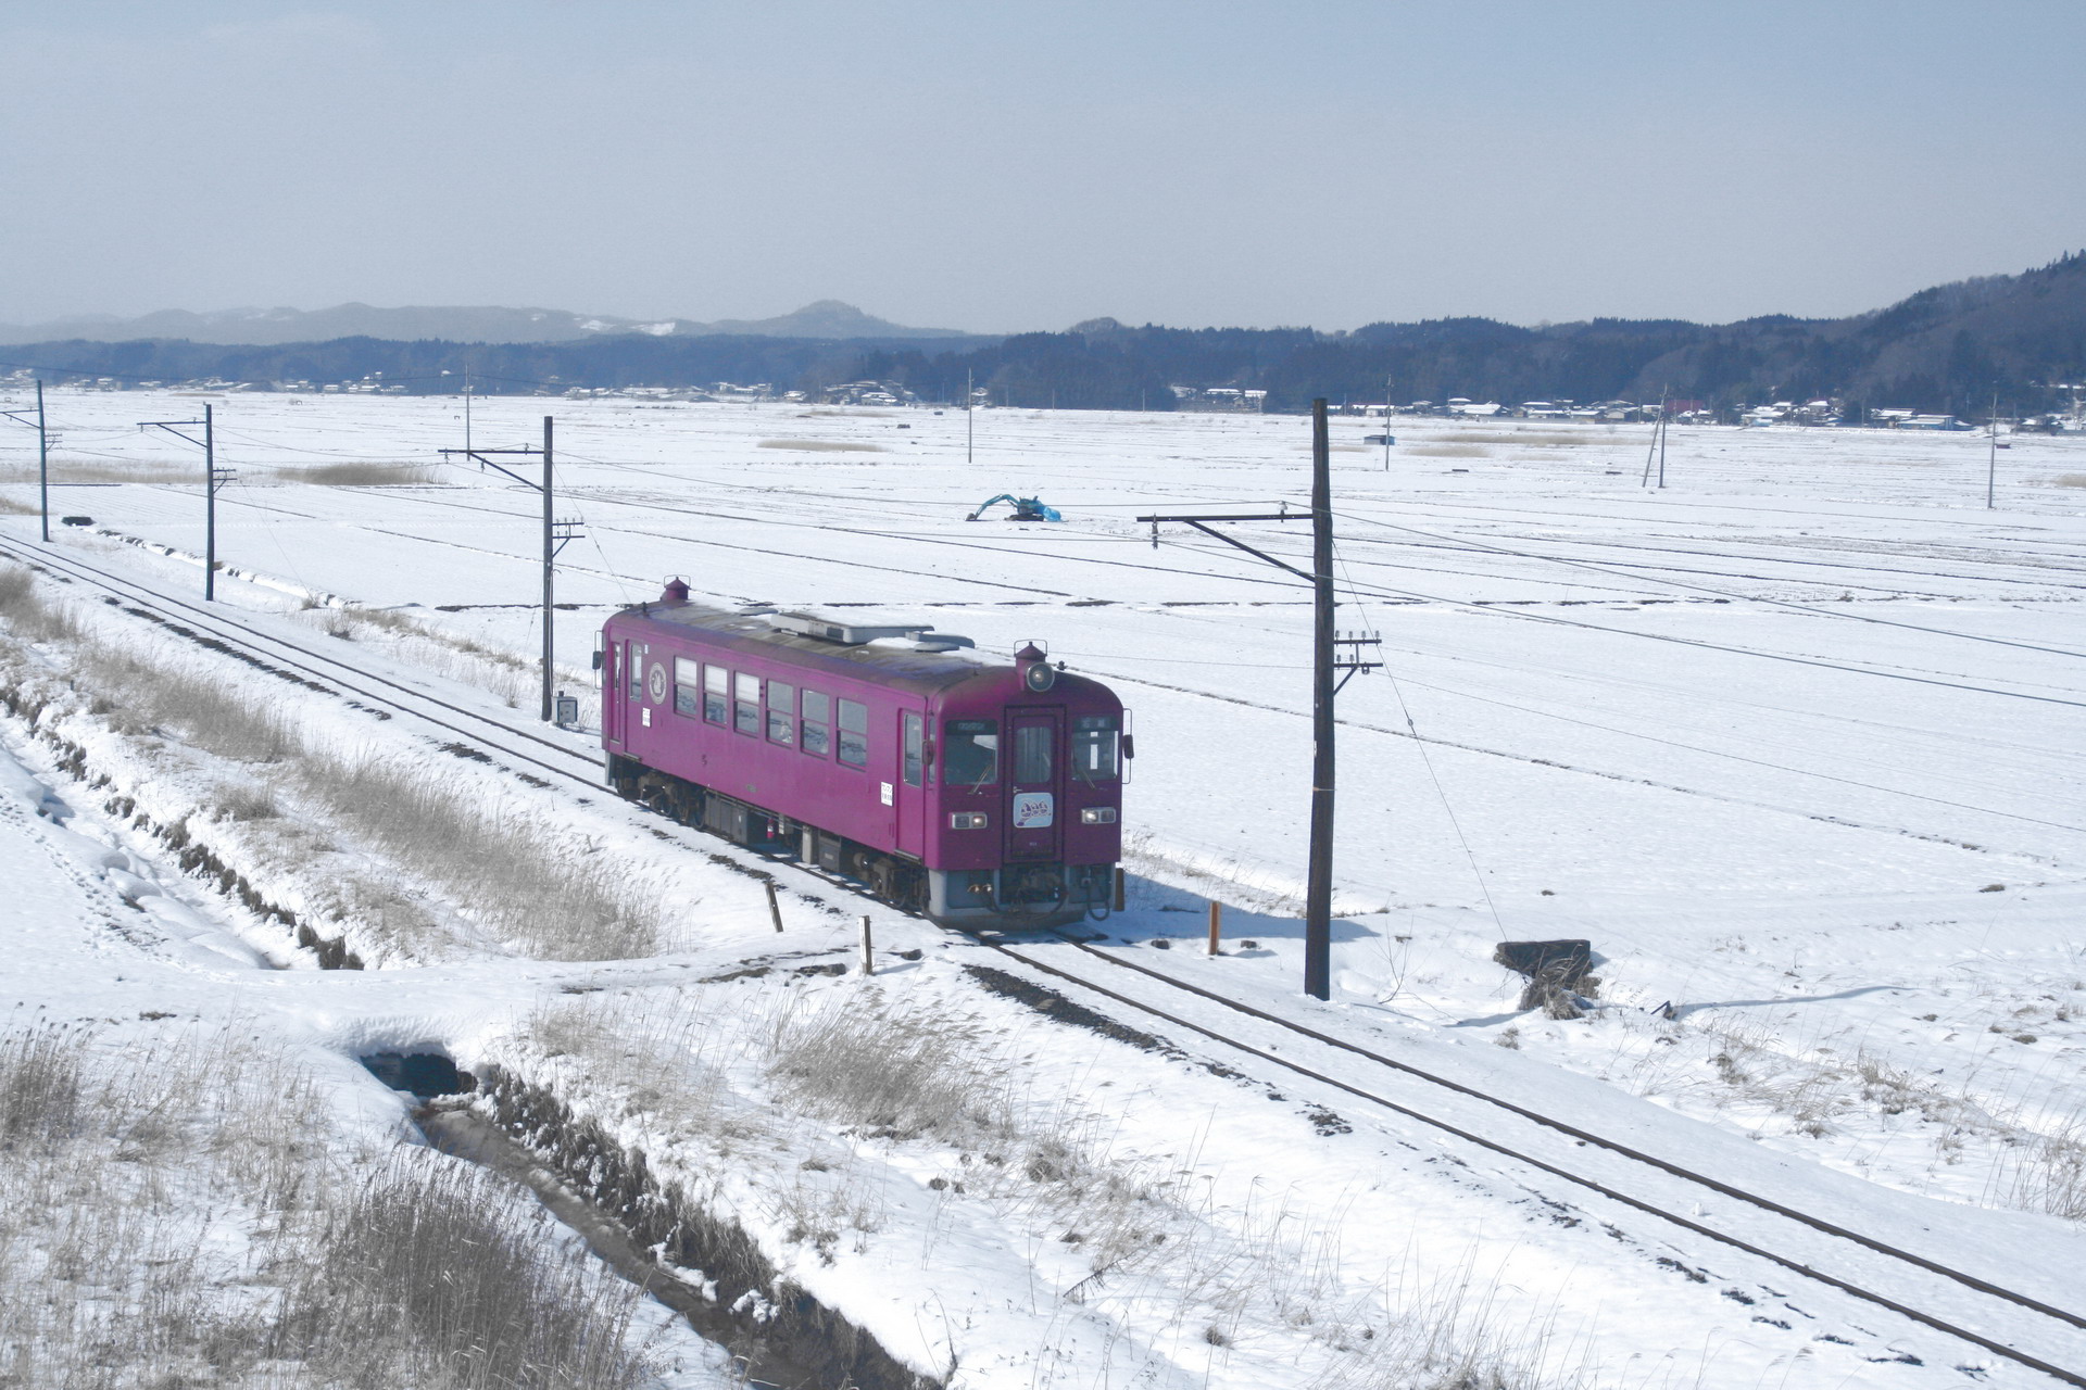
[[[348,692],[394,713],[446,729],[561,781],[601,790],[601,765],[590,750],[547,738],[513,719],[444,700],[305,646],[267,634],[221,609],[142,588],[56,548],[0,540],[0,554],[88,584],[154,621],[179,623],[250,656]],[[632,809],[636,811],[636,809]],[[761,863],[766,857],[749,854]],[[845,888],[826,875],[809,879]],[[1414,1121],[1517,1167],[1562,1180],[1598,1200],[1648,1215],[1669,1227],[1767,1261],[1802,1280],[1886,1309],[1957,1338],[2023,1369],[2086,1390],[2086,1315],[1955,1269],[1915,1250],[1700,1173],[1556,1115],[1517,1104],[1427,1067],[1337,1038],[1295,1019],[1254,1009],[1114,952],[1072,934],[1058,934],[1093,973],[1039,959],[1033,944],[974,938],[999,959],[1056,986],[1154,1019],[1170,1034],[1189,1034],[1197,1050],[1250,1059],[1325,1086],[1387,1115]],[[1287,1054],[1283,1052],[1287,1048]],[[1936,1311],[1946,1309],[1946,1311]]]

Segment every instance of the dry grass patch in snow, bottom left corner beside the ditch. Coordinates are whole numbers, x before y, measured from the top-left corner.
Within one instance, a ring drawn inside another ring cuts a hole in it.
[[[640,1294],[524,1194],[357,1152],[229,1034],[0,1036],[0,1386],[634,1390]],[[332,1138],[332,1144],[328,1142]]]

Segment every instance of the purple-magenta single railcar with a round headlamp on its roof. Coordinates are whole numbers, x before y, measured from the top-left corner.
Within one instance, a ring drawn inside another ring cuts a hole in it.
[[[962,927],[1106,913],[1122,702],[1035,646],[657,602],[603,627],[609,784]]]

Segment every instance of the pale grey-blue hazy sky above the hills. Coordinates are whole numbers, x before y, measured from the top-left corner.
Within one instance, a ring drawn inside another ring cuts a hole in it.
[[[1725,321],[2086,246],[2086,2],[0,8],[0,319]]]

